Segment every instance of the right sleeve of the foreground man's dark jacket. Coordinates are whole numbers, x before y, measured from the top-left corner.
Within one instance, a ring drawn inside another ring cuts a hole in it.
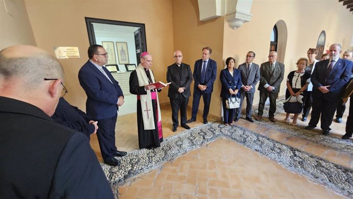
[[[79,132],[61,152],[49,198],[114,198],[95,153]]]

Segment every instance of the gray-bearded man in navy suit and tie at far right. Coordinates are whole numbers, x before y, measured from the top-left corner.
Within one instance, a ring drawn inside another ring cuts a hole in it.
[[[352,62],[340,58],[341,45],[335,43],[329,47],[329,59],[316,63],[311,76],[313,83],[313,110],[312,118],[305,127],[311,130],[316,127],[321,115],[321,129],[327,136],[331,130],[329,126],[340,102],[344,85],[349,81],[352,71]]]

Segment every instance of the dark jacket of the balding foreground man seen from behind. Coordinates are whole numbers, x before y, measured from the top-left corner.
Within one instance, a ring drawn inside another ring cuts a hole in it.
[[[0,97],[0,128],[0,198],[114,198],[81,132],[6,97]]]

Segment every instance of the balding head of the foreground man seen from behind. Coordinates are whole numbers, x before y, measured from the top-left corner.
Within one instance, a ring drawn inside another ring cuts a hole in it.
[[[33,104],[51,116],[63,81],[61,64],[46,51],[34,46],[0,51],[0,96]]]

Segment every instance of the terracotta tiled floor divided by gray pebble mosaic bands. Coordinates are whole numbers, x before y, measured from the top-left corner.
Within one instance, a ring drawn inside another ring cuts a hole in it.
[[[188,113],[190,113],[189,110]],[[348,105],[341,124],[333,122],[331,134],[341,137],[344,134]],[[277,119],[283,119],[278,114]],[[301,119],[301,118],[300,118]],[[308,121],[310,118],[308,118]],[[307,122],[298,120],[299,126]],[[138,149],[136,115],[118,117],[116,145],[118,150]],[[218,122],[209,118],[209,122]],[[162,106],[162,126],[164,138],[185,130],[178,127],[171,131],[171,110]],[[202,125],[198,114],[190,127]],[[255,123],[240,119],[236,125],[248,128],[286,145],[315,154],[321,158],[353,168],[352,156],[305,139],[283,134]],[[319,126],[319,125],[318,125]],[[315,129],[320,132],[319,128]],[[91,137],[91,146],[97,157],[101,154],[97,138]],[[119,189],[119,198],[339,198],[323,186],[308,181],[305,176],[288,171],[277,163],[268,160],[249,148],[234,141],[220,139],[191,151],[183,157],[165,164],[162,168],[138,176]]]

